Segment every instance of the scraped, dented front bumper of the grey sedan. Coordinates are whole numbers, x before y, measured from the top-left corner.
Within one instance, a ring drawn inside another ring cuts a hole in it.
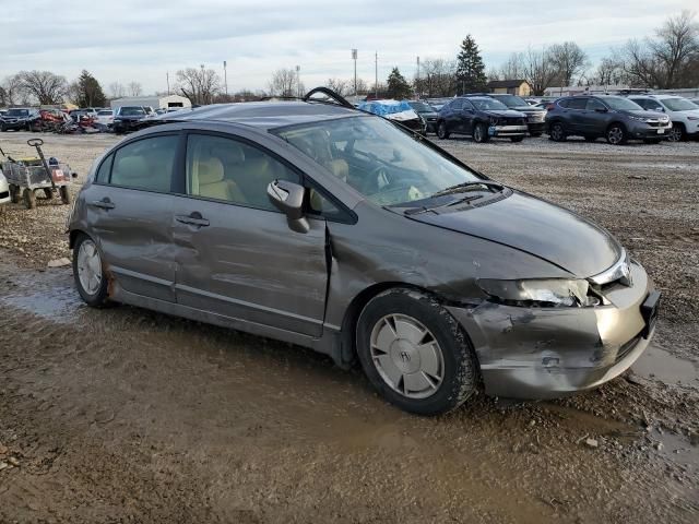
[[[629,269],[631,285],[612,285],[601,306],[449,307],[471,336],[486,393],[553,398],[595,388],[627,370],[653,335],[659,297],[640,264],[632,261]]]

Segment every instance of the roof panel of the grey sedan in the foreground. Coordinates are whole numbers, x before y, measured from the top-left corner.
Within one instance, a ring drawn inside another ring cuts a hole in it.
[[[364,115],[364,111],[336,104],[309,102],[242,102],[237,104],[213,104],[191,110],[185,109],[162,115],[159,119],[168,122],[235,122],[262,129],[273,129],[296,123],[333,120],[359,115]]]

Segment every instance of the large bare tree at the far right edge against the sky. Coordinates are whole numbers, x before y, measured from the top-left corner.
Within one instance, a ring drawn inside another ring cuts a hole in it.
[[[655,38],[629,40],[624,50],[624,70],[633,85],[670,90],[696,78],[699,60],[699,25],[694,13],[683,11],[655,32]]]

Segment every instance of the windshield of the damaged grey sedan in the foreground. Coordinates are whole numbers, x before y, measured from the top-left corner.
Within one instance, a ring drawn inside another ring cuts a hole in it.
[[[386,120],[350,117],[272,130],[379,205],[431,196],[481,180]]]

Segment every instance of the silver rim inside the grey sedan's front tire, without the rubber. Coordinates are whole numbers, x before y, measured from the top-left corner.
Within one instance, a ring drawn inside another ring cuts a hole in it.
[[[408,398],[427,398],[445,379],[445,359],[435,335],[406,314],[381,318],[370,338],[371,361],[381,379]]]

